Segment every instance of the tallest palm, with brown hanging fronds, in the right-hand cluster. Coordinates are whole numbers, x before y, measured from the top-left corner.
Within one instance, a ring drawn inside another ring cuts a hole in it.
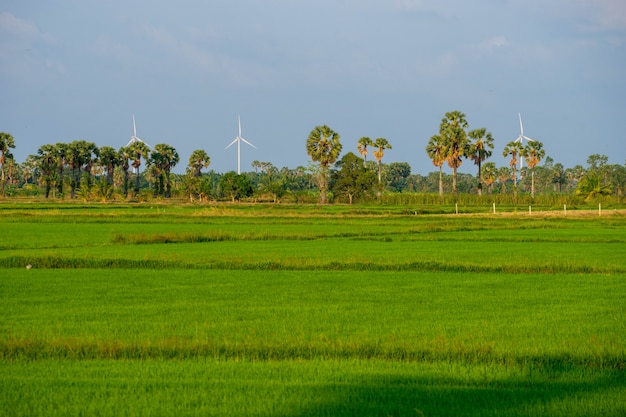
[[[457,199],[459,191],[456,186],[456,172],[463,164],[461,158],[467,157],[469,150],[469,142],[465,132],[467,127],[465,114],[458,110],[446,113],[439,125],[439,136],[441,136],[441,140],[444,143],[444,157],[448,162],[448,166],[452,168],[452,190]]]

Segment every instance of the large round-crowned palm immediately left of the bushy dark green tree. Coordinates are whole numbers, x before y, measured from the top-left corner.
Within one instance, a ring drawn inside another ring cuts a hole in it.
[[[339,133],[330,127],[316,126],[306,141],[306,151],[314,162],[320,164],[318,185],[320,187],[320,200],[326,204],[326,189],[328,188],[328,171],[341,153],[342,145],[339,142]]]

